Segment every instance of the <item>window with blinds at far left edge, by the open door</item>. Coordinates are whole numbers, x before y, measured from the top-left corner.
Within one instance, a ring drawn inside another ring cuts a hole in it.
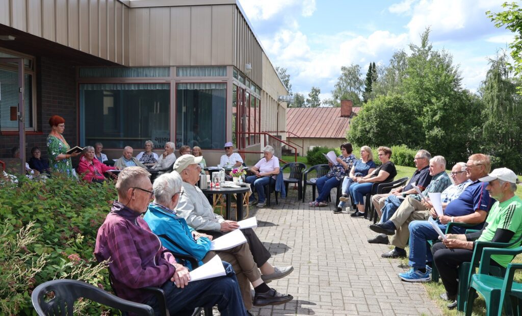
[[[17,58],[20,56],[0,51],[0,58]],[[23,109],[25,111],[25,128],[35,130],[34,124],[34,72],[32,58],[24,58]],[[18,111],[18,65],[16,63],[0,63],[0,129],[17,131],[18,121],[11,121],[11,107]]]

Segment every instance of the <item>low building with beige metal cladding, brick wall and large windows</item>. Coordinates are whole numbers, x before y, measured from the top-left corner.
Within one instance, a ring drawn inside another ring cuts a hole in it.
[[[24,62],[26,148],[49,117],[70,145],[110,158],[151,139],[199,146],[209,164],[232,141],[247,160],[286,125],[288,94],[235,0],[0,0],[0,58]],[[16,65],[0,62],[0,157],[19,142]],[[0,158],[1,159],[1,158]]]

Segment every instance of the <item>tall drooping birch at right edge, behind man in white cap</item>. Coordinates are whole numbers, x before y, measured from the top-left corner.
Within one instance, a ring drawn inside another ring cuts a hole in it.
[[[511,76],[505,52],[490,60],[479,92],[484,103],[484,150],[496,167],[522,171],[522,98],[516,93],[520,79]]]

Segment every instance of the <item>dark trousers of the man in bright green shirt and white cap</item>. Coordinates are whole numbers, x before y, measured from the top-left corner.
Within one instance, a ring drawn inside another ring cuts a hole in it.
[[[442,284],[448,297],[457,296],[458,292],[458,267],[463,262],[471,262],[473,250],[468,249],[447,249],[444,243],[437,242],[431,248],[433,262],[441,275]],[[491,260],[490,265],[500,266],[496,261]]]

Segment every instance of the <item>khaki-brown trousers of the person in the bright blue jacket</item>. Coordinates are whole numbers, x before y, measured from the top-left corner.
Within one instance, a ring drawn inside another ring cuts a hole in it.
[[[203,262],[208,262],[213,256],[219,255],[222,261],[226,261],[232,265],[235,275],[238,278],[241,296],[246,310],[252,309],[252,297],[250,295],[250,284],[261,277],[261,272],[257,268],[252,252],[248,243],[245,242],[231,249],[221,250],[217,252],[209,251]]]

